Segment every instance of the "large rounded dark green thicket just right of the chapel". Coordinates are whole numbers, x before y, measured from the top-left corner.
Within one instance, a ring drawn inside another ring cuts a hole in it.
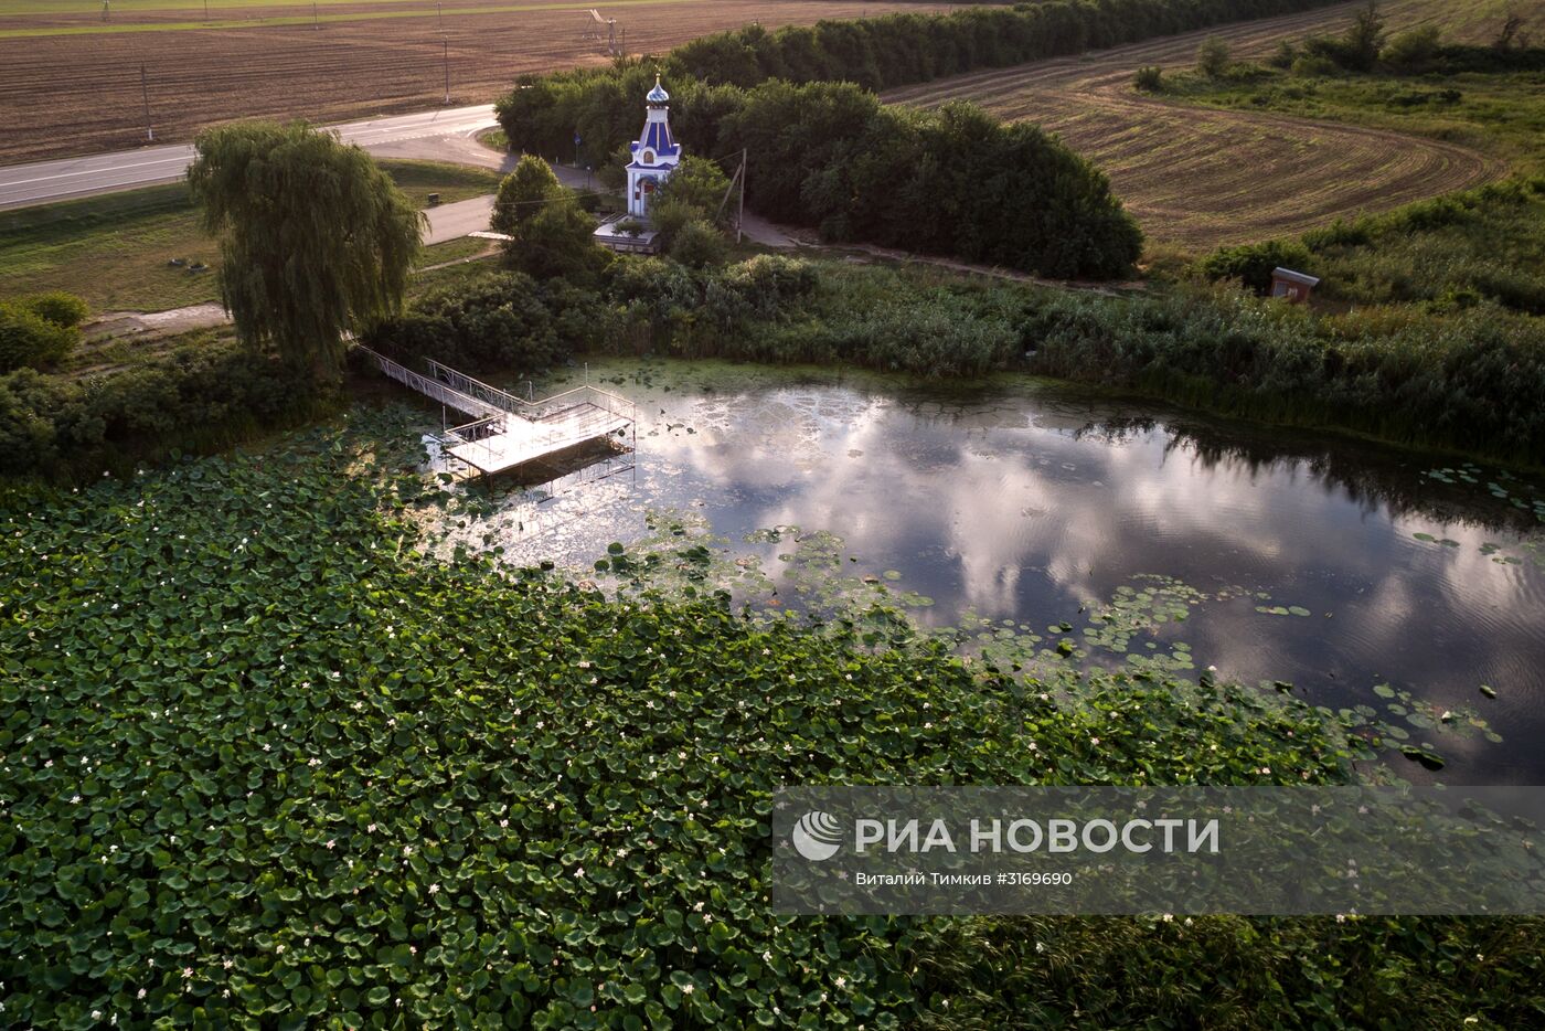
[[[882,107],[848,83],[737,100],[711,145],[749,153],[746,202],[776,221],[1058,278],[1125,275],[1142,252],[1105,175],[1034,125]]]

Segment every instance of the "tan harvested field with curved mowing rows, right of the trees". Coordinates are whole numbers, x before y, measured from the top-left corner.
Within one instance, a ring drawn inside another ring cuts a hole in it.
[[[885,100],[935,107],[967,99],[1032,121],[1109,173],[1154,243],[1205,250],[1299,233],[1338,216],[1380,212],[1500,178],[1506,162],[1401,133],[1281,114],[1180,107],[1132,88],[1143,65],[1190,66],[1208,36],[1236,59],[1278,42],[1340,31],[1361,3],[1248,22],[1146,43],[907,87]],[[1451,39],[1489,39],[1485,3],[1390,0],[1395,29],[1428,22]]]

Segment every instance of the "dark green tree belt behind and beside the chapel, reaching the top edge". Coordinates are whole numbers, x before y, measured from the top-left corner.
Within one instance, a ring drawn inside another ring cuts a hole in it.
[[[1109,181],[1031,125],[972,105],[905,111],[871,90],[1112,46],[1327,0],[1054,0],[895,14],[694,40],[660,59],[525,76],[497,104],[511,147],[624,161],[661,71],[689,151],[748,153],[748,206],[834,241],[942,253],[1052,277],[1126,274],[1142,233]]]

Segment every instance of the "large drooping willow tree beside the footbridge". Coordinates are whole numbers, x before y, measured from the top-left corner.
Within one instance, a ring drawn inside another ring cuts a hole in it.
[[[345,334],[402,308],[423,213],[369,155],[304,122],[222,125],[193,147],[238,337],[335,379]]]

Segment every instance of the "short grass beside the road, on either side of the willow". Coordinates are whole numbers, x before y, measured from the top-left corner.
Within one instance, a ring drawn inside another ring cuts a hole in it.
[[[420,207],[428,193],[451,202],[499,184],[497,173],[485,168],[428,161],[382,165]],[[431,247],[422,263],[459,257],[460,250]],[[79,294],[93,312],[164,311],[216,300],[213,269],[190,267],[216,260],[215,241],[199,229],[181,182],[0,212],[0,295],[62,289]]]

